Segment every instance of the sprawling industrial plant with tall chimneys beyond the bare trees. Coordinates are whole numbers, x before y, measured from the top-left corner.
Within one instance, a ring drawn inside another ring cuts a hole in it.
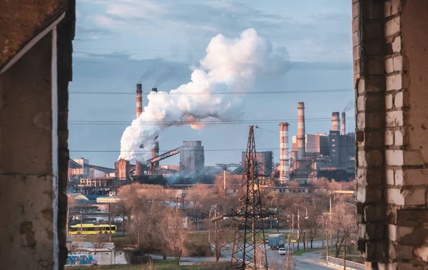
[[[157,92],[157,88],[152,88]],[[136,85],[136,117],[143,110],[143,88]],[[277,186],[287,186],[287,182],[296,181],[307,185],[320,177],[328,180],[349,181],[355,178],[355,133],[346,133],[346,113],[332,113],[332,128],[327,133],[305,133],[305,103],[297,104],[297,126],[278,123],[280,133],[280,156],[275,160],[273,151],[257,152],[258,175],[265,182]],[[297,130],[291,137],[289,130]],[[228,171],[231,175],[242,175],[245,152],[242,160],[234,164],[205,166],[205,152],[201,141],[183,141],[183,144],[168,152],[159,152],[158,136],[155,136],[151,158],[136,160],[118,160],[113,168],[91,165],[81,157],[69,161],[68,183],[73,192],[79,188],[103,192],[109,187],[127,185],[131,182],[167,185],[171,183],[191,184],[203,182],[212,184],[215,175]],[[290,147],[291,145],[291,147]],[[141,148],[143,145],[141,145]],[[179,165],[160,165],[161,160],[180,155]],[[231,168],[234,168],[233,170]],[[87,194],[87,193],[86,193]]]

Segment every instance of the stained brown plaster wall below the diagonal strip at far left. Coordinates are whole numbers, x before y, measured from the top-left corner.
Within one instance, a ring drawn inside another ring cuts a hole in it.
[[[2,269],[53,268],[51,128],[48,35],[0,76]]]

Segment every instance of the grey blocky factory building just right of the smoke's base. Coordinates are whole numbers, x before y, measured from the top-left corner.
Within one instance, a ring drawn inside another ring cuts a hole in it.
[[[200,175],[205,166],[205,154],[202,142],[184,141],[180,146],[180,173]]]

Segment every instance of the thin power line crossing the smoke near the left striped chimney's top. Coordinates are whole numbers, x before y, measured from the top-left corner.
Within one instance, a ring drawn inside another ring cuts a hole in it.
[[[231,92],[210,92],[210,93],[190,93],[190,92],[165,92],[168,95],[272,95],[272,94],[293,94],[293,93],[336,93],[336,92],[353,92],[353,88],[337,89],[314,89],[314,90],[285,90],[285,91],[231,91]],[[69,94],[81,95],[135,95],[135,92],[106,92],[106,91],[68,91]],[[143,92],[145,93],[145,92]],[[149,94],[148,92],[145,94]],[[158,92],[159,93],[159,92]]]

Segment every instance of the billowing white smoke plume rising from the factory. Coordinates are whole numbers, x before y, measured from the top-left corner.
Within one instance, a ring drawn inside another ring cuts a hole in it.
[[[124,160],[147,160],[156,135],[172,125],[203,128],[201,120],[234,120],[243,115],[243,100],[218,92],[248,90],[258,75],[281,75],[287,71],[286,56],[272,50],[264,38],[247,29],[239,38],[219,34],[211,39],[200,67],[190,82],[167,92],[148,94],[148,105],[121,138]],[[141,145],[143,147],[141,148]]]

